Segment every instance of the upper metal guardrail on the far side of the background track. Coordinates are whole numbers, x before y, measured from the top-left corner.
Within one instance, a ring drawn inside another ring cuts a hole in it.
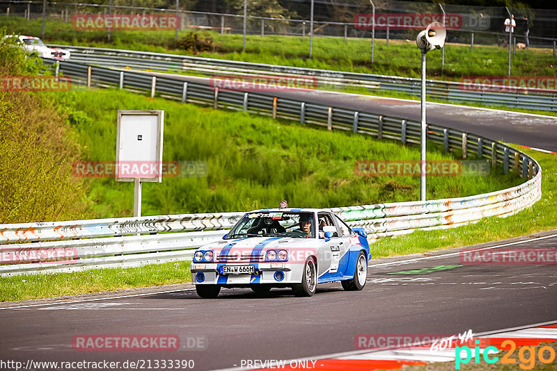
[[[359,74],[355,72],[329,71],[327,69],[309,69],[281,65],[266,65],[235,60],[180,56],[177,54],[148,53],[120,49],[103,49],[92,47],[74,47],[53,45],[69,49],[72,60],[100,66],[136,67],[140,69],[158,69],[162,71],[193,71],[197,74],[215,76],[219,74],[270,74],[270,75],[303,75],[312,76],[322,86],[361,86],[368,89],[383,89],[405,92],[419,96],[421,81],[409,77]],[[434,99],[451,102],[471,102],[522,108],[531,110],[549,110],[557,112],[557,90],[528,89],[524,92],[494,92],[489,90],[505,90],[489,85],[478,90],[464,83],[453,81],[427,80],[427,94]]]

